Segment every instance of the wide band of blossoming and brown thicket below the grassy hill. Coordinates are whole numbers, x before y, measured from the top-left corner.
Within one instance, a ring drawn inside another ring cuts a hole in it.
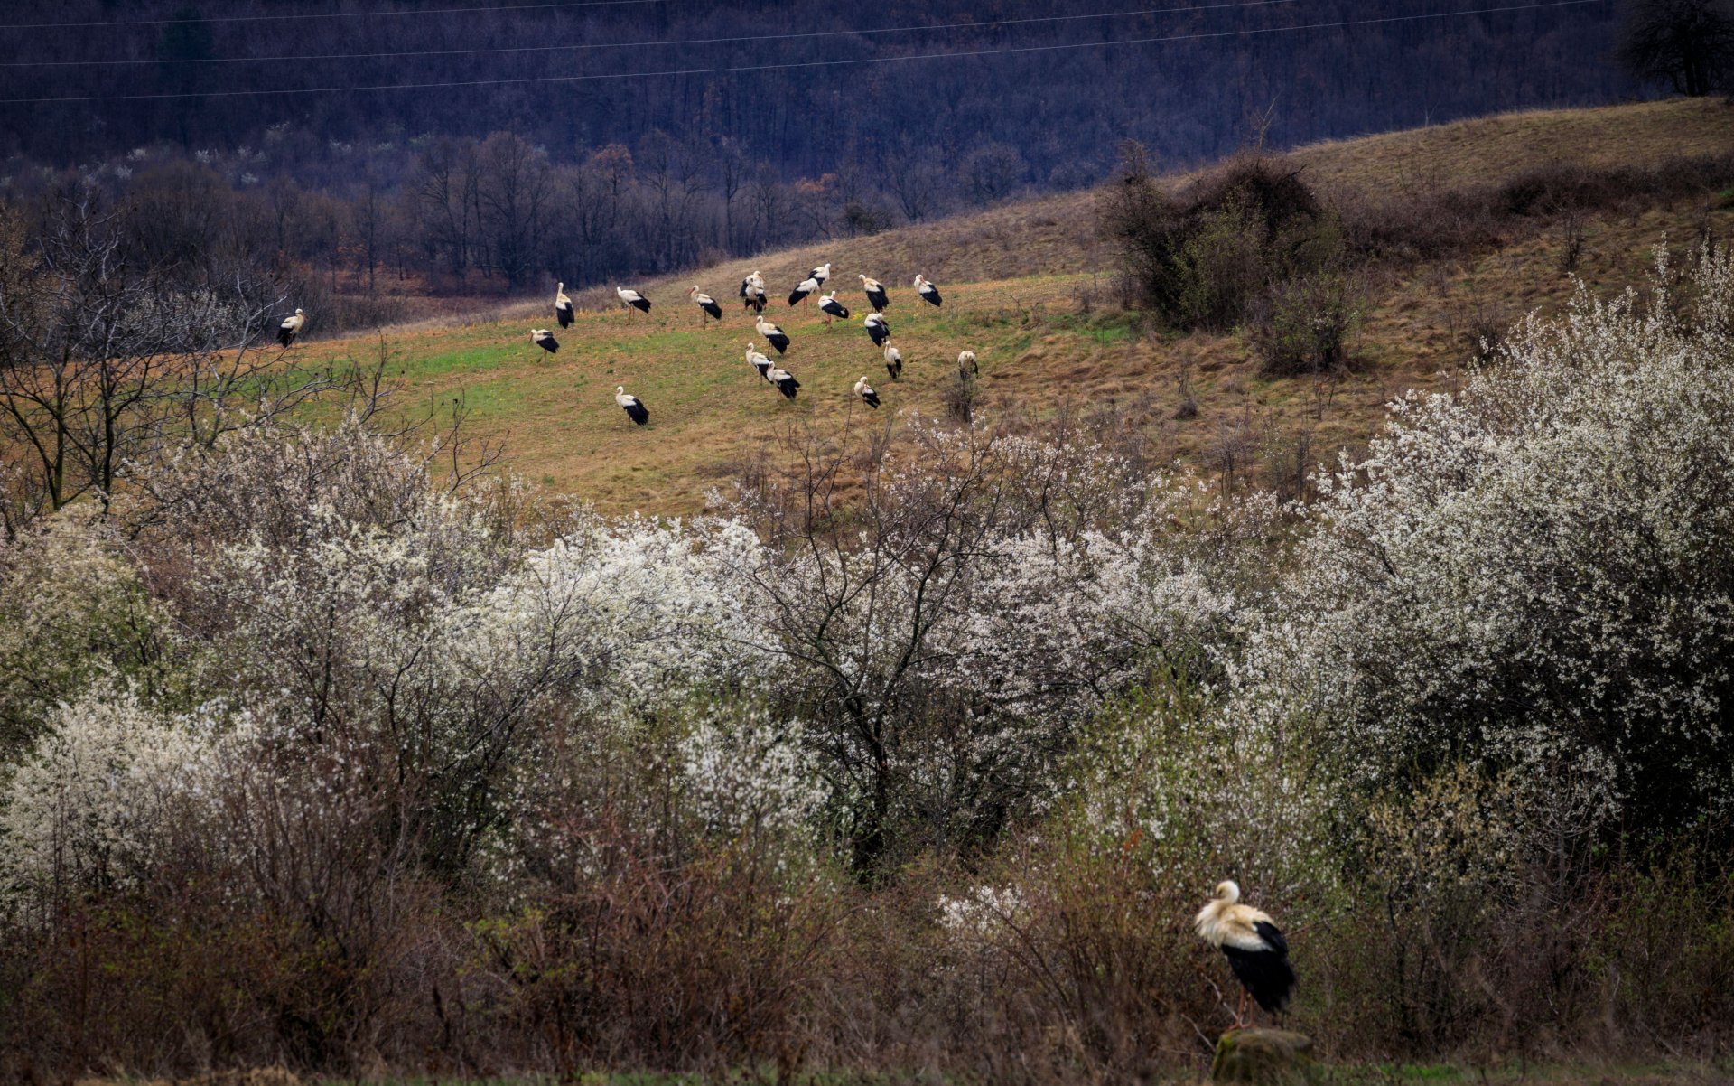
[[[1330,1058],[1725,1058],[1731,378],[1706,252],[1306,510],[1113,418],[680,524],[362,415],[184,442],[0,550],[0,1072],[1146,1081],[1224,876]]]

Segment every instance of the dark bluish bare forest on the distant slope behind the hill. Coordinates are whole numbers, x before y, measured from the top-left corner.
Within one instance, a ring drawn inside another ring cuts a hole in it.
[[[149,208],[153,258],[203,258],[227,243],[359,272],[368,293],[381,269],[435,290],[473,290],[479,274],[515,288],[662,272],[707,253],[1079,187],[1106,173],[1127,137],[1158,161],[1186,163],[1250,139],[1287,146],[1635,90],[1609,62],[1614,5],[1599,3],[1252,35],[1235,31],[1441,9],[1288,0],[1077,17],[1061,0],[872,9],[669,0],[359,14],[381,7],[9,7],[0,64],[14,66],[0,68],[0,99],[14,101],[0,102],[0,191],[28,203],[68,182],[101,184]],[[323,12],[349,14],[309,17]],[[1030,21],[1046,16],[1054,19]],[[73,26],[120,21],[128,24]],[[865,33],[957,23],[976,26]],[[1129,43],[1186,35],[1221,36]],[[1122,43],[831,66],[1111,42]],[[352,56],[406,52],[423,56]],[[786,68],[231,94],[765,64]],[[16,101],[83,95],[144,97]]]

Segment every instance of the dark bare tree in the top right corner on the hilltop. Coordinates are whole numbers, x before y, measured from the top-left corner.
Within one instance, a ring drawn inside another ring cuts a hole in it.
[[[1703,97],[1725,87],[1734,73],[1734,7],[1729,0],[1630,0],[1620,62],[1677,94]]]

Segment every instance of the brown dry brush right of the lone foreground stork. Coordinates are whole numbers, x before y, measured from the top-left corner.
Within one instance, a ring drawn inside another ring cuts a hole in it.
[[[1373,801],[1353,899],[1304,940],[1302,975],[1327,992],[1307,1025],[1335,1058],[1729,1043],[1734,880],[1691,843],[1597,859],[1580,784],[1457,765]]]

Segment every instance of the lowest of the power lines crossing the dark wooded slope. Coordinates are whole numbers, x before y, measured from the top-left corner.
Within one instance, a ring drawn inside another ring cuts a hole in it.
[[[1158,38],[1124,38],[1120,42],[1073,42],[1065,45],[1018,45],[1006,49],[978,49],[978,50],[955,50],[955,52],[924,52],[924,54],[905,54],[896,57],[851,57],[846,61],[786,61],[777,64],[746,64],[737,68],[671,68],[664,71],[610,71],[610,73],[593,73],[593,75],[548,75],[548,76],[518,76],[505,80],[456,80],[456,82],[439,82],[439,83],[376,83],[361,87],[271,87],[262,90],[184,90],[184,92],[163,92],[163,94],[87,94],[87,95],[62,95],[62,97],[40,97],[40,99],[0,99],[0,106],[45,106],[52,102],[134,102],[134,101],[160,101],[160,99],[217,99],[217,97],[276,97],[288,94],[355,94],[355,92],[375,92],[375,90],[439,90],[454,87],[510,87],[510,85],[529,85],[529,83],[588,83],[595,80],[642,80],[642,78],[659,78],[659,76],[680,76],[680,75],[740,75],[753,71],[789,71],[805,68],[843,68],[843,66],[860,66],[860,64],[891,64],[900,61],[947,61],[947,59],[968,59],[968,57],[1002,57],[1011,54],[1028,54],[1028,52],[1061,52],[1077,49],[1103,49],[1111,45],[1160,45],[1169,42],[1198,42],[1209,38],[1247,38],[1257,35],[1276,35],[1276,33],[1297,33],[1307,29],[1344,29],[1351,26],[1375,26],[1387,23],[1422,23],[1429,19],[1455,19],[1463,16],[1491,16],[1500,12],[1521,12],[1521,10],[1538,10],[1552,7],[1583,7],[1587,3],[1607,3],[1609,0],[1542,0],[1536,3],[1507,3],[1500,7],[1477,7],[1472,10],[1457,12],[1429,12],[1422,16],[1382,16],[1377,19],[1344,19],[1339,23],[1304,23],[1299,26],[1259,26],[1248,29],[1222,29],[1207,33],[1190,33],[1190,35],[1165,35]]]

